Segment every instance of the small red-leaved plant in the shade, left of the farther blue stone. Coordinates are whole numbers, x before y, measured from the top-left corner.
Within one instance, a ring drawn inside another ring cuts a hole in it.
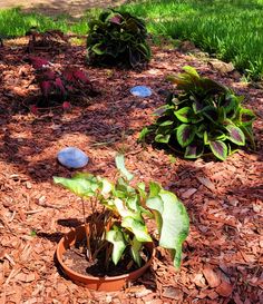
[[[37,71],[36,79],[42,94],[41,106],[48,107],[51,101],[64,104],[75,94],[95,94],[85,71],[71,67],[60,70],[40,57],[30,56],[28,60]]]

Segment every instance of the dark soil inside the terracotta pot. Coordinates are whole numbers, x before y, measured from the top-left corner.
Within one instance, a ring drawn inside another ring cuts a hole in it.
[[[86,249],[81,244],[71,246],[62,255],[65,265],[81,275],[91,275],[97,277],[118,276],[139,268],[138,265],[130,258],[128,253],[124,255],[124,258],[119,261],[117,265],[109,262],[107,268],[105,266],[105,259],[106,251],[103,251],[95,261],[89,262],[86,257]],[[142,251],[142,266],[144,266],[148,259],[149,253],[146,248],[144,248]]]

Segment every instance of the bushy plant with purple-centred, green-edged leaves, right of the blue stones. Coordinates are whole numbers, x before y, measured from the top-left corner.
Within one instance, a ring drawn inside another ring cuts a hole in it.
[[[255,116],[242,106],[243,97],[230,88],[201,77],[192,67],[169,77],[177,92],[167,97],[156,121],[143,129],[140,139],[149,138],[179,150],[185,158],[213,153],[221,160],[246,143],[254,148],[252,124]]]

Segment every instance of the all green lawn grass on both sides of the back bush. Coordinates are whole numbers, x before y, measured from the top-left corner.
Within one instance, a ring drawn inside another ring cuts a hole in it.
[[[205,51],[232,61],[254,79],[263,79],[263,0],[155,0],[125,4],[121,10],[147,21],[149,32],[187,39]],[[22,36],[32,26],[40,30],[60,29],[86,35],[90,13],[70,21],[20,10],[0,10],[0,35]]]

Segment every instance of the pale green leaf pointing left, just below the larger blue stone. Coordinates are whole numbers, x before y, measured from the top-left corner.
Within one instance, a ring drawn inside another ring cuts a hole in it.
[[[78,174],[72,178],[53,177],[55,184],[60,184],[78,196],[90,197],[99,188],[99,182],[94,175]]]

